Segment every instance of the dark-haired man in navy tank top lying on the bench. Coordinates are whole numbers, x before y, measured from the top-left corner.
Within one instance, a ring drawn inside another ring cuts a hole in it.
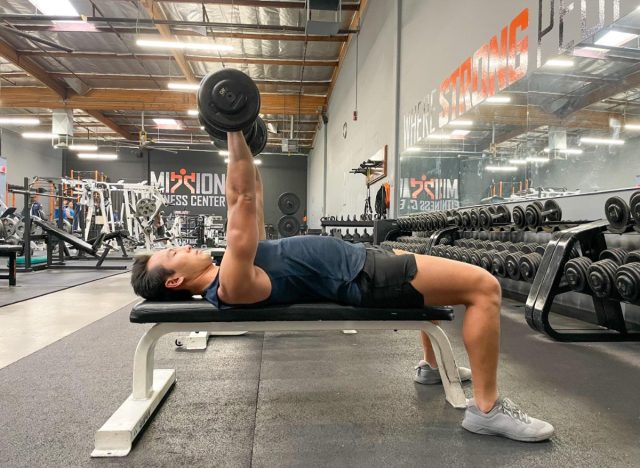
[[[212,264],[208,253],[189,246],[138,257],[131,279],[138,295],[177,300],[201,294],[219,309],[318,301],[363,307],[463,304],[474,398],[462,426],[526,442],[551,437],[551,424],[498,398],[501,291],[490,273],[444,258],[333,237],[266,241],[262,184],[242,132],[229,133],[228,145],[227,250],[220,266]],[[462,369],[460,377],[468,380],[470,373]]]

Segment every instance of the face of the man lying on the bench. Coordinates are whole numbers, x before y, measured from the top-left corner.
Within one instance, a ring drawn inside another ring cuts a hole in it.
[[[189,283],[211,267],[211,264],[211,255],[208,252],[185,245],[154,253],[147,263],[147,268],[162,266],[172,270],[174,273],[167,278],[165,286],[175,288]]]

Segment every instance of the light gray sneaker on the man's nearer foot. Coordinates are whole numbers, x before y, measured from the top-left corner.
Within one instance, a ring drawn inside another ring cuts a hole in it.
[[[462,427],[476,434],[498,435],[521,442],[539,442],[553,435],[548,422],[531,418],[508,398],[500,398],[488,413],[469,400]]]

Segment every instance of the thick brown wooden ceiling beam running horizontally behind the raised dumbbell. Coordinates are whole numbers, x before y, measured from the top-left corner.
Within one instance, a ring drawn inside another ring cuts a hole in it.
[[[264,114],[319,114],[326,105],[325,96],[261,94]],[[195,109],[195,93],[145,89],[92,89],[82,96],[63,100],[47,88],[8,86],[2,88],[0,108],[15,109],[83,109],[87,110],[151,110],[187,112]]]

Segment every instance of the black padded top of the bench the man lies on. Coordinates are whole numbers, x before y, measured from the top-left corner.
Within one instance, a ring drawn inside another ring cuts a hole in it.
[[[133,323],[453,320],[453,309],[375,309],[313,303],[219,310],[204,299],[193,299],[175,302],[143,301],[133,307],[129,319]]]

